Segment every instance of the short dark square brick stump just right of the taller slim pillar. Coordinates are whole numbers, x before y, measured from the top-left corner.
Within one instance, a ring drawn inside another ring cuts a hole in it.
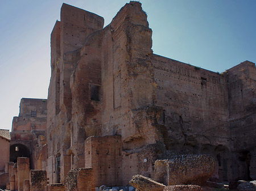
[[[47,176],[46,171],[43,170],[30,170],[30,183],[31,191],[47,189]]]

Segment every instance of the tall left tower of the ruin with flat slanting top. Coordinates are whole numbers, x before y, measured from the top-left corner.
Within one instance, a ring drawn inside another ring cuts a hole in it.
[[[84,96],[84,100],[78,102],[81,107],[72,111],[72,99],[76,99],[76,96],[74,94],[72,97],[71,74],[81,58],[79,49],[84,45],[84,40],[91,33],[102,29],[104,24],[104,19],[100,16],[65,3],[61,7],[60,20],[56,22],[51,34],[52,74],[47,106],[47,176],[50,183],[64,182],[69,169],[84,167],[84,141],[86,136],[88,137],[85,133],[86,123],[79,120],[80,116],[75,117],[75,114],[80,112],[80,108],[88,105],[90,97]],[[88,74],[89,76],[78,85],[79,88],[88,85],[89,78],[94,76],[93,73]],[[98,80],[96,81],[98,84]],[[84,91],[81,93],[85,93]],[[78,99],[81,98],[77,96]],[[84,114],[85,112],[82,113],[82,119],[87,117]],[[56,175],[56,156],[59,155],[60,180],[59,175]]]

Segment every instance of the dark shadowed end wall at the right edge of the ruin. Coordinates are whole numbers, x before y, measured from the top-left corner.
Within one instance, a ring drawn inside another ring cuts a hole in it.
[[[229,91],[230,131],[233,143],[233,178],[255,179],[256,173],[256,67],[245,61],[225,73]],[[249,169],[249,171],[247,171]]]

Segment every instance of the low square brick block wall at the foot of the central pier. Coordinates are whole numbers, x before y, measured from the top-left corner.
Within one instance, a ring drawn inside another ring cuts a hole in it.
[[[93,169],[96,186],[121,186],[121,136],[87,138],[85,140],[85,168]]]

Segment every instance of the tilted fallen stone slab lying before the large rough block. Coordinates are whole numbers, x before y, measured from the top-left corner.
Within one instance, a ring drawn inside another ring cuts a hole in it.
[[[163,191],[164,187],[166,187],[165,185],[142,175],[133,176],[129,183],[139,191]]]

